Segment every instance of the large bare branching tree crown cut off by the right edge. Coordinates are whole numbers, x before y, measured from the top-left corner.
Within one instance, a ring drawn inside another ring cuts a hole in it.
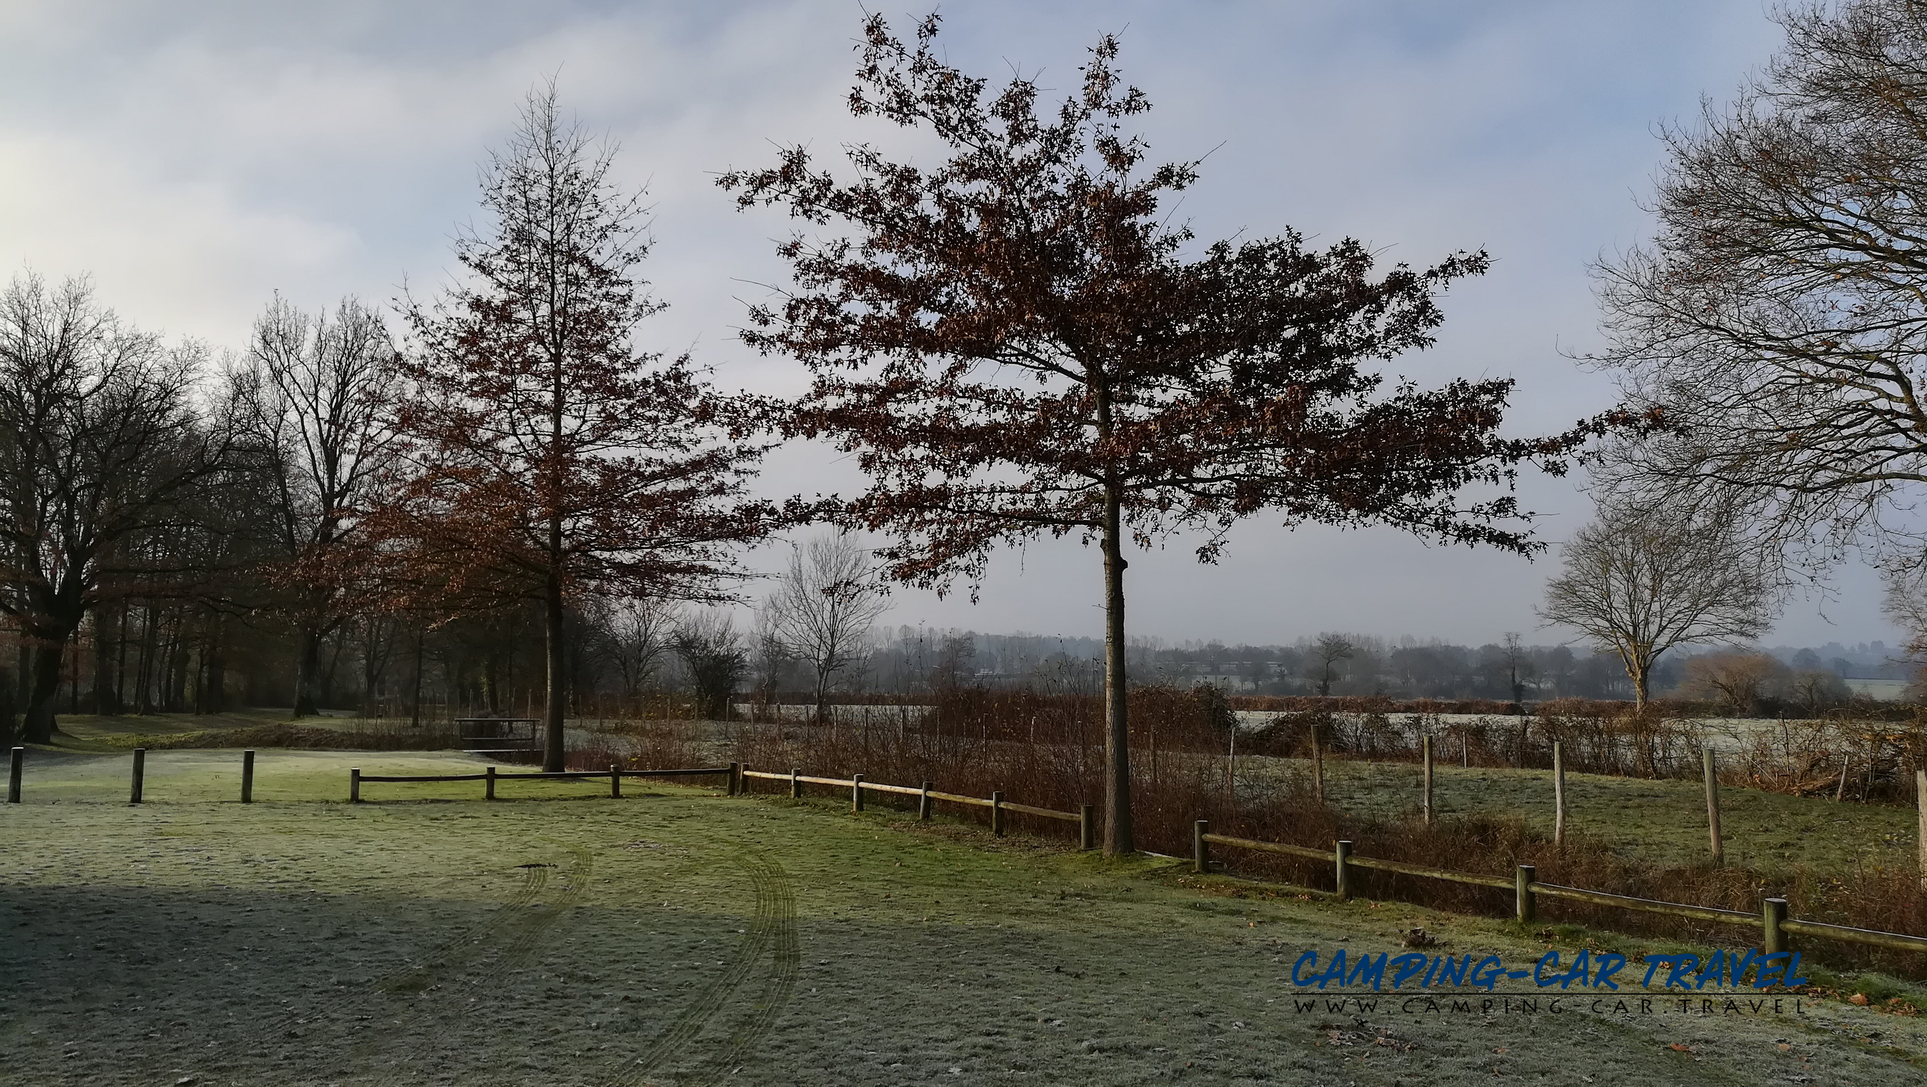
[[[1917,541],[1892,514],[1927,481],[1927,4],[1775,17],[1786,44],[1738,100],[1665,131],[1653,240],[1596,269],[1597,362],[1663,421],[1605,475],[1648,504],[1744,500],[1825,562]]]

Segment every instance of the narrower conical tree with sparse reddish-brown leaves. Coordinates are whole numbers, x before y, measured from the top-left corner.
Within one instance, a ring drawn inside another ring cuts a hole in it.
[[[736,546],[775,514],[744,496],[761,402],[632,344],[661,304],[630,275],[642,208],[611,154],[563,123],[553,87],[530,96],[484,173],[495,229],[457,244],[468,283],[409,308],[409,475],[376,518],[416,600],[541,602],[545,770],[563,768],[570,602],[726,600]]]

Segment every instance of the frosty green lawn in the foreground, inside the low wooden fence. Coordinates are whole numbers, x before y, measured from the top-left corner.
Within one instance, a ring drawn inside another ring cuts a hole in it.
[[[156,752],[131,808],[125,754],[37,752],[0,806],[0,1083],[1858,1087],[1917,1083],[1927,1052],[1919,1018],[1829,997],[1301,1012],[1305,948],[1397,954],[1411,927],[1509,964],[1653,947],[640,781],[349,806],[349,766],[476,764],[262,752],[241,806],[239,752]]]

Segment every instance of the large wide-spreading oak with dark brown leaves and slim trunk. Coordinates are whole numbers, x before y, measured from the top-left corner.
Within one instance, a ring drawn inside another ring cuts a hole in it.
[[[894,537],[894,577],[942,589],[998,544],[1100,544],[1104,848],[1129,852],[1127,539],[1202,529],[1210,562],[1235,521],[1270,512],[1522,552],[1536,544],[1507,527],[1522,512],[1505,485],[1576,439],[1495,437],[1509,381],[1387,389],[1364,367],[1430,344],[1434,294],[1484,271],[1484,252],[1380,277],[1364,244],[1318,252],[1291,231],[1193,254],[1160,208],[1197,162],[1147,167],[1123,121],[1148,102],[1120,81],[1114,38],[1041,114],[1033,79],[992,90],[940,62],[937,25],[906,44],[869,17],[850,108],[933,135],[948,160],[854,144],[838,179],[798,144],[721,179],[742,208],[848,231],[782,242],[794,291],[752,310],[744,339],[813,371],[794,429],[856,454],[869,489],[838,516]],[[1474,483],[1499,487],[1463,502]]]

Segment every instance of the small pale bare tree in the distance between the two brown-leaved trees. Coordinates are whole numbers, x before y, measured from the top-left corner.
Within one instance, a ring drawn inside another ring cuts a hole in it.
[[[836,679],[869,652],[869,627],[888,608],[879,566],[856,537],[813,537],[790,554],[765,602],[771,629],[809,666],[821,721]]]

